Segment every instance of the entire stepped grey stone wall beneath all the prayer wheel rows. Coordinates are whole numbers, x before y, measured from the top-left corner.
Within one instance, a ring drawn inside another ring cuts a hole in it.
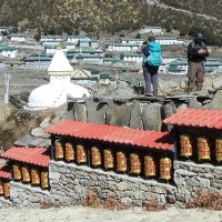
[[[161,204],[181,204],[195,198],[199,191],[222,192],[222,167],[182,161],[174,161],[172,184],[62,161],[50,162],[49,178],[50,191],[11,181],[10,199],[0,196],[0,208],[40,208],[43,202],[53,206],[82,204],[88,190],[101,200],[114,196],[121,203],[135,206],[153,199]]]

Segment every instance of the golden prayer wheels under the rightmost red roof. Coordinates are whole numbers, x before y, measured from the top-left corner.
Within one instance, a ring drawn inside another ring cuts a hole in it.
[[[211,161],[211,152],[214,152],[218,162],[222,161],[222,139],[215,140],[214,149],[206,138],[198,138],[196,144],[199,161]],[[193,157],[193,151],[194,145],[192,144],[191,138],[189,135],[180,135],[180,155],[191,158]]]

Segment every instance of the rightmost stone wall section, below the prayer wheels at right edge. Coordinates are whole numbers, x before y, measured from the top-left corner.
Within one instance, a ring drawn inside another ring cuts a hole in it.
[[[222,167],[174,161],[176,201],[188,203],[201,191],[222,192]]]

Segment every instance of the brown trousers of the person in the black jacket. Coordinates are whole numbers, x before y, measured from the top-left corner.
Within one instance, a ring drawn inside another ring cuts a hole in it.
[[[203,62],[190,62],[188,68],[188,91],[201,90],[204,81]]]

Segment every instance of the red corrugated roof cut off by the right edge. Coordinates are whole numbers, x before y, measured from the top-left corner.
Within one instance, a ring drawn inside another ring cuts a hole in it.
[[[171,115],[163,121],[164,123],[222,129],[222,111],[221,110],[201,110],[184,108],[178,113]]]

